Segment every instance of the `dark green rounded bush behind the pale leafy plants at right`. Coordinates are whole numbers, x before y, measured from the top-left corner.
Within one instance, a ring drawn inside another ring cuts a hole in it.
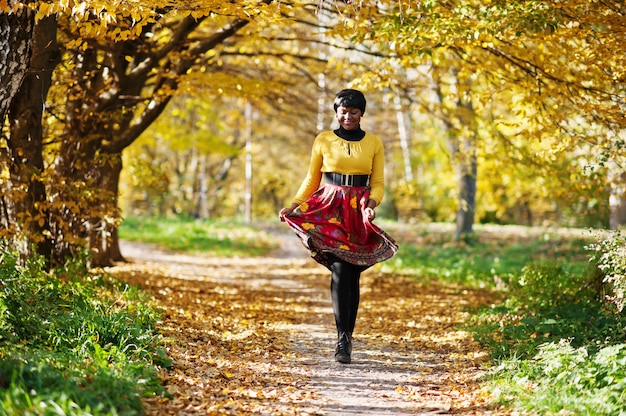
[[[561,339],[584,346],[626,336],[625,322],[606,312],[591,277],[543,262],[526,265],[509,284],[504,302],[482,308],[472,321],[476,339],[496,359],[530,358],[539,345]]]

